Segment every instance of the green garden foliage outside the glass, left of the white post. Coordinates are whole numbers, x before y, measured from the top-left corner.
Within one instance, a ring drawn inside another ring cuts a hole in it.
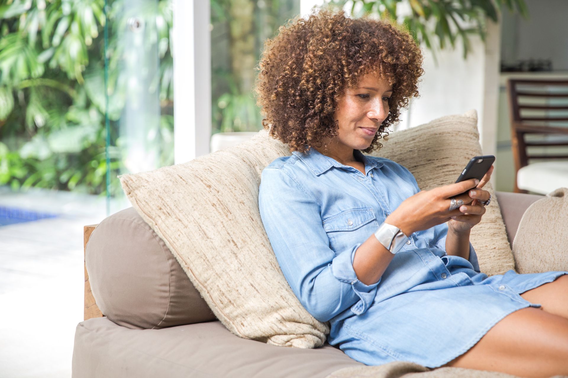
[[[105,91],[104,0],[5,0],[0,5],[0,185],[106,194],[108,116],[125,104],[120,76],[124,0],[108,7],[109,86]],[[159,38],[161,164],[173,163],[172,0],[153,10]],[[122,81],[121,81],[122,80]],[[155,133],[154,133],[155,134]],[[123,169],[111,128],[110,167]],[[118,180],[111,193],[119,193]]]

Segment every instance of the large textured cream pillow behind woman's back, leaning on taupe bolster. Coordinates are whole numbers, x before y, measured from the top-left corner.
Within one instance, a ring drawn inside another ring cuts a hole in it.
[[[312,317],[294,295],[258,211],[262,169],[288,154],[262,130],[239,146],[120,181],[232,333],[313,348],[325,342],[329,323]]]

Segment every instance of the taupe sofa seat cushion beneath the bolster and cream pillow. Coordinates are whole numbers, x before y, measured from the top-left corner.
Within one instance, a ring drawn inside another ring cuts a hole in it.
[[[73,377],[325,377],[365,366],[329,344],[281,348],[233,335],[219,321],[133,330],[106,317],[80,322]]]

